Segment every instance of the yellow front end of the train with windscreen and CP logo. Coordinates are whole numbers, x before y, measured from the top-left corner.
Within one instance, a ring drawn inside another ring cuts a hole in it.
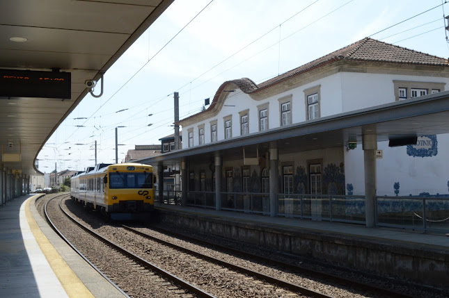
[[[155,204],[155,174],[151,165],[122,163],[109,165],[104,199],[113,220],[148,217]]]

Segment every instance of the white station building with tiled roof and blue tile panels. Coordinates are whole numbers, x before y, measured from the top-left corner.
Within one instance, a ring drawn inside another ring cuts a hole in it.
[[[244,142],[246,135],[306,126],[448,88],[448,60],[365,38],[259,85],[249,78],[223,83],[207,110],[179,122],[182,148],[235,138]],[[449,135],[417,137],[416,145],[402,147],[377,142],[382,150],[377,159],[377,195],[448,194]],[[319,138],[308,142],[308,151],[279,154],[280,193],[365,194],[361,146],[349,150],[347,142],[334,147],[320,147]],[[251,163],[245,163],[243,156],[223,161],[222,190],[269,192],[265,151],[251,152],[257,158]],[[189,190],[214,191],[209,164],[189,166]]]

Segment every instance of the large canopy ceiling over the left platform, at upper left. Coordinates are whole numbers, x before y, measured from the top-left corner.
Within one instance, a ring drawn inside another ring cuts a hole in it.
[[[0,167],[35,160],[109,67],[174,0],[0,2]],[[100,93],[95,88],[95,94]]]

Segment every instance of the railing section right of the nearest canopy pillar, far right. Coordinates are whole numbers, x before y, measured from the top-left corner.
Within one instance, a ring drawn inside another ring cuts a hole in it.
[[[376,197],[376,225],[449,233],[449,197]]]

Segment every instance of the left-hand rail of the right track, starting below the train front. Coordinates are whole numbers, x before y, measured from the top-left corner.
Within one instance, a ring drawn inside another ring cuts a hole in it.
[[[207,261],[209,261],[211,263],[215,263],[217,265],[221,265],[221,266],[230,268],[232,270],[236,270],[238,272],[242,272],[244,274],[248,274],[250,276],[255,276],[258,279],[267,281],[269,283],[273,283],[274,285],[278,285],[278,286],[280,286],[282,288],[286,288],[288,290],[292,290],[293,292],[299,292],[302,295],[308,295],[310,297],[317,297],[317,298],[329,298],[329,297],[332,297],[332,296],[328,296],[328,295],[322,294],[320,292],[316,292],[314,290],[310,290],[308,288],[304,288],[301,285],[296,285],[294,283],[288,283],[287,281],[283,281],[281,279],[276,279],[276,278],[274,278],[272,276],[268,276],[268,275],[262,274],[260,272],[255,272],[253,270],[249,270],[247,268],[235,265],[233,263],[228,263],[226,261],[220,260],[218,258],[214,258],[212,256],[206,256],[205,254],[201,254],[198,251],[193,251],[193,250],[187,249],[185,247],[180,247],[179,245],[175,245],[175,244],[173,244],[171,242],[167,242],[165,240],[153,237],[152,235],[148,235],[148,234],[142,233],[141,231],[137,231],[137,230],[135,230],[135,229],[133,229],[133,228],[131,228],[129,226],[125,226],[125,225],[122,225],[122,226],[123,226],[123,229],[126,229],[127,231],[131,231],[132,233],[136,233],[137,235],[141,235],[143,238],[148,238],[150,240],[154,240],[156,242],[159,242],[162,245],[166,245],[168,247],[172,247],[172,248],[177,249],[179,251],[184,251],[187,254],[196,256],[198,258],[202,258],[203,260],[207,260]]]

